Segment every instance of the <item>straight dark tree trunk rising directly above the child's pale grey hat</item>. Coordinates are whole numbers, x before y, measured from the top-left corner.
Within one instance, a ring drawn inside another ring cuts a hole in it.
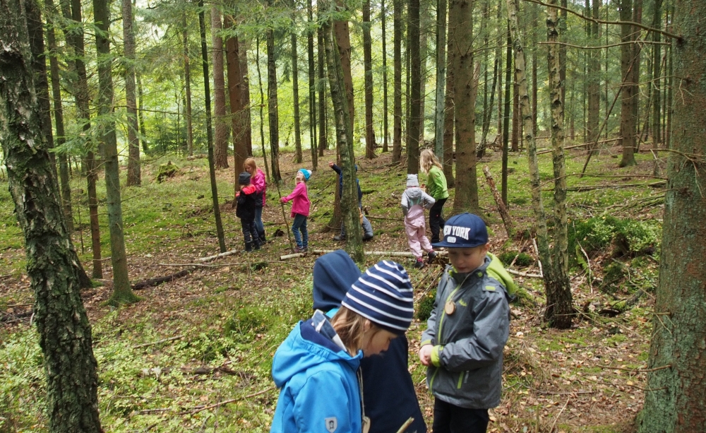
[[[407,173],[419,172],[419,134],[421,130],[421,59],[419,57],[419,0],[409,0],[407,8],[409,37],[409,129],[407,130]]]

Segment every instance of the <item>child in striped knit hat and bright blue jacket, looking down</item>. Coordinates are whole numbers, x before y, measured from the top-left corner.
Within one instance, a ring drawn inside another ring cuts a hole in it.
[[[360,362],[387,350],[413,313],[407,271],[380,261],[350,287],[332,319],[316,310],[300,321],[275,352],[280,397],[270,433],[369,432]]]

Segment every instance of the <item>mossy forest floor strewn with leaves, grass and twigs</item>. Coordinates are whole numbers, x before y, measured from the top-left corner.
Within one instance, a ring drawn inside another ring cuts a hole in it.
[[[577,235],[577,239],[589,261],[576,259],[580,249],[569,251],[574,258],[571,286],[578,310],[573,327],[565,331],[548,328],[542,321],[542,280],[516,278],[529,296],[512,305],[503,400],[491,410],[489,432],[633,429],[646,388],[645,374],[639,370],[647,368],[664,185],[647,185],[656,180],[651,178],[652,155],[638,154],[638,165],[618,168],[618,152],[617,148],[606,149],[594,157],[587,170],[590,176],[567,177],[573,188],[568,195],[570,224],[593,224],[581,226],[582,230],[590,227],[589,232],[574,230],[585,235]],[[311,168],[311,155],[306,151],[301,164],[292,164],[292,156],[287,153],[280,159],[286,182],[282,195],[292,190],[299,167]],[[343,246],[332,240],[337,227],[326,227],[337,182],[327,166],[333,158],[333,152],[327,151],[309,182],[313,203],[310,250]],[[585,153],[580,151],[568,153],[567,173],[580,172],[584,159]],[[177,164],[179,173],[157,184],[159,166],[167,160]],[[484,165],[489,165],[499,186],[500,153],[487,155],[479,169]],[[532,227],[533,220],[525,153],[511,153],[509,166],[510,213],[518,232],[523,232]],[[375,160],[361,159],[359,167],[363,203],[376,234],[364,244],[366,251],[408,251],[399,207],[406,170],[390,164],[389,153]],[[544,204],[551,210],[554,182],[548,153],[541,156],[540,169]],[[227,247],[242,249],[240,225],[232,209],[234,170],[219,170],[217,177]],[[481,170],[478,179],[481,209],[491,227],[491,251],[524,251],[530,255],[530,263],[513,268],[538,273],[530,238],[507,238]],[[90,275],[83,181],[74,177],[73,188],[74,218],[82,223],[73,240]],[[450,194],[446,216],[452,215],[453,189]],[[102,182],[99,196],[104,203]],[[288,209],[286,222],[282,217],[277,189],[268,189],[263,215],[272,242],[253,254],[238,252],[193,267],[190,264],[196,259],[218,253],[205,158],[147,158],[143,161],[143,186],[124,188],[122,199],[131,281],[185,268],[193,271],[184,278],[138,290],[140,302],[115,309],[104,304],[111,294],[112,277],[110,261],[104,260],[102,285],[83,292],[100,373],[104,430],[268,432],[277,402],[270,376],[272,356],[292,326],[311,314],[311,268],[317,257],[307,254],[280,260],[280,255],[289,253],[286,225],[291,219]],[[640,241],[632,239],[635,236],[650,238],[653,245],[618,254],[626,239],[621,241],[612,229],[601,225],[611,217],[642,227],[638,235],[634,230],[628,234],[631,245]],[[100,218],[102,248],[107,256],[107,221],[105,215]],[[277,229],[285,236],[273,237]],[[602,248],[589,249],[580,243],[599,235],[604,240]],[[378,259],[366,256],[366,266]],[[417,299],[428,297],[436,287],[441,266],[417,270],[411,266],[412,259],[395,259],[407,267]],[[33,300],[25,263],[22,232],[13,215],[6,180],[0,179],[0,433],[47,430],[42,355],[31,316],[25,316]],[[417,358],[425,325],[415,320],[407,334],[409,372],[431,426],[433,399],[426,390],[426,369]]]

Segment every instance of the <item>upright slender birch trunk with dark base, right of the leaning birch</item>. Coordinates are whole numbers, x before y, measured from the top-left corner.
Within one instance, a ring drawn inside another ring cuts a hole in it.
[[[549,4],[556,5],[557,0]],[[551,162],[554,167],[554,227],[551,249],[551,272],[544,270],[546,309],[544,319],[555,328],[571,326],[573,305],[568,278],[568,235],[566,223],[566,163],[564,162],[564,109],[562,104],[561,55],[558,42],[557,9],[548,8],[546,18],[547,64],[551,111]]]

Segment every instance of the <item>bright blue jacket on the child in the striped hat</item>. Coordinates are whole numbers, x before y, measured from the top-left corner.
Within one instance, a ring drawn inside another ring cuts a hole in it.
[[[362,357],[318,333],[311,319],[300,321],[275,352],[272,375],[281,389],[270,433],[361,432],[356,371]]]

